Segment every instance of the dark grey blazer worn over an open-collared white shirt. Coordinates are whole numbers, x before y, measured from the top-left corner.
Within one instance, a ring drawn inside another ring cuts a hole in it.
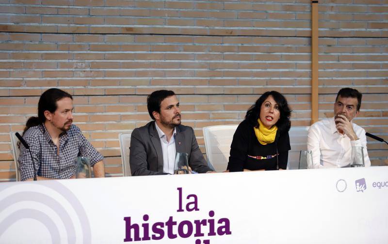
[[[194,130],[190,126],[178,125],[175,135],[177,152],[188,154],[189,166],[198,173],[206,173],[208,167],[199,150]],[[161,140],[155,127],[155,121],[132,131],[129,147],[129,165],[132,176],[162,175],[163,153]]]

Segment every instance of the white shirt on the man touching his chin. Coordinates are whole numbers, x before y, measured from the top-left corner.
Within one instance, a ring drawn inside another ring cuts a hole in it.
[[[337,131],[334,117],[323,119],[310,126],[307,136],[307,150],[312,151],[312,165],[308,168],[340,168],[349,166],[352,146],[364,147],[365,167],[371,166],[367,151],[365,130],[352,122],[357,140],[350,140],[345,134]]]

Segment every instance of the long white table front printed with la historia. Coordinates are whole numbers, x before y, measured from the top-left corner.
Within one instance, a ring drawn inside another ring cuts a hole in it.
[[[0,184],[0,243],[388,243],[388,167]]]

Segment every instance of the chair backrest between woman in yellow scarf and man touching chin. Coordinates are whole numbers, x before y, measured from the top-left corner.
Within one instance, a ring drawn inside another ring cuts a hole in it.
[[[299,168],[301,150],[307,150],[307,132],[309,126],[294,126],[288,132],[290,135],[291,150],[288,153],[287,169]]]

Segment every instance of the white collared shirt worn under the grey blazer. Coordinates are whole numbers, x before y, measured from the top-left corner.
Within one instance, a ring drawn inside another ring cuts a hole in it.
[[[155,123],[156,130],[158,131],[159,138],[161,139],[162,153],[163,153],[163,172],[174,174],[175,167],[175,154],[177,149],[175,148],[175,134],[177,134],[177,128],[174,128],[173,136],[170,141],[167,141],[166,135]]]

